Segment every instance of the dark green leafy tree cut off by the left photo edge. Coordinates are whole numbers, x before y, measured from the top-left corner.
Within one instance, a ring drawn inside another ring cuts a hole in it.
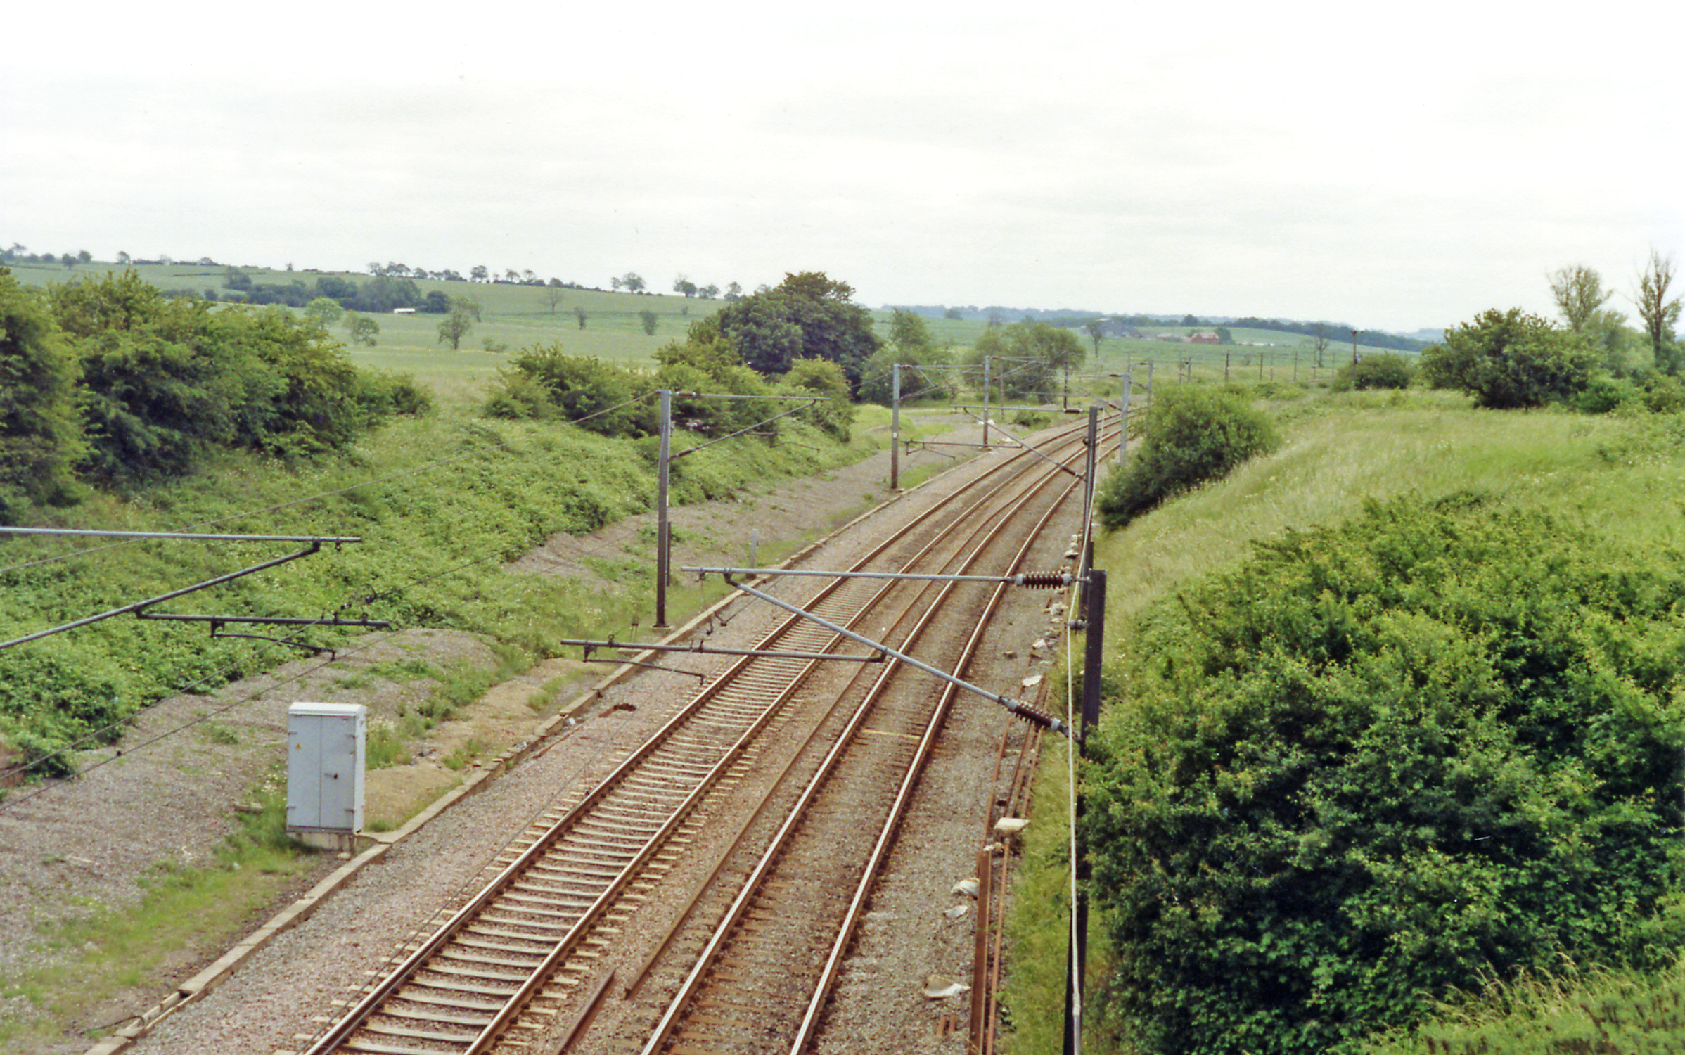
[[[88,453],[79,379],[47,305],[0,268],[0,522],[19,499],[76,499],[74,470]]]

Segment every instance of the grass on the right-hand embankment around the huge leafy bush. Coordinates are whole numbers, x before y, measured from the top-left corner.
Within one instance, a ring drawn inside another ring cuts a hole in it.
[[[1474,411],[1461,398],[1412,393],[1289,403],[1277,408],[1277,420],[1286,435],[1277,453],[1100,539],[1095,565],[1109,571],[1109,664],[1126,649],[1131,622],[1156,602],[1235,566],[1250,554],[1254,539],[1348,519],[1365,499],[1478,492],[1516,509],[1552,511],[1628,551],[1677,548],[1685,541],[1678,516],[1685,448],[1680,423],[1672,418]],[[1014,908],[1008,991],[1013,1052],[1048,1052],[1060,1043],[1068,932],[1068,898],[1062,895],[1068,883],[1065,801],[1065,762],[1055,748],[1038,779],[1038,822],[1026,841]],[[1107,976],[1105,932],[1105,920],[1095,918],[1090,983]],[[1624,989],[1611,996],[1599,986]],[[1479,1047],[1483,1038],[1488,1045],[1511,1045],[1491,1050],[1641,1050],[1549,1048],[1542,1038],[1549,1036],[1549,1021],[1555,1021],[1555,1040],[1570,1036],[1562,1030],[1575,1016],[1586,1023],[1601,1020],[1606,1030],[1611,1021],[1643,1023],[1645,1008],[1658,1020],[1656,1008],[1672,1008],[1677,989],[1677,977],[1606,979],[1587,988],[1540,983],[1532,991],[1523,983],[1501,999],[1447,1009],[1442,1021],[1417,1038],[1385,1050],[1436,1050],[1429,1036],[1446,1052],[1488,1050]],[[1565,996],[1545,999],[1557,991]],[[1549,1018],[1547,1004],[1555,1008],[1549,1015],[1560,1013],[1559,1018]],[[1596,1023],[1589,1028],[1587,1043],[1602,1043]],[[1516,1031],[1523,1040],[1513,1040]],[[1451,1047],[1452,1040],[1458,1047]]]

